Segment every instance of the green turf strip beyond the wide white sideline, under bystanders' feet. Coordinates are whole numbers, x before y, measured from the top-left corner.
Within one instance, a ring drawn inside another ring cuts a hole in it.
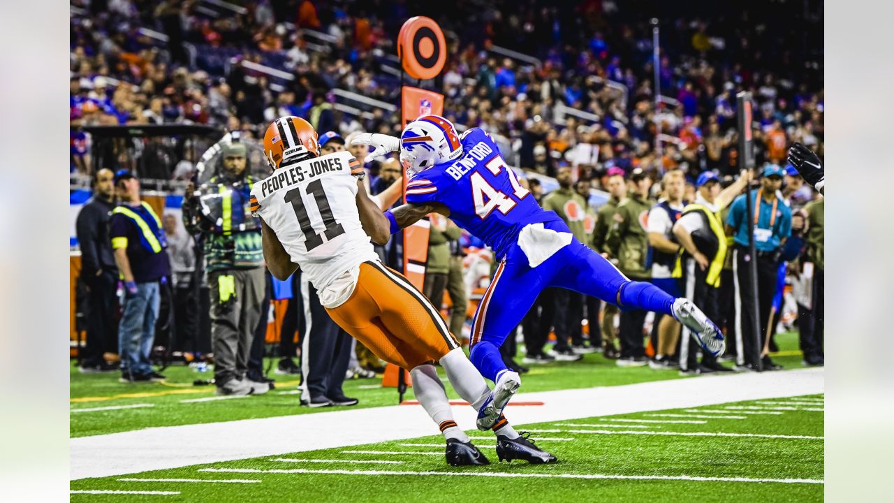
[[[774,360],[786,368],[801,368],[801,357],[794,354],[797,353],[797,334],[780,334],[777,341],[784,355],[776,356]],[[620,368],[614,361],[603,358],[602,354],[587,354],[580,362],[554,362],[531,369],[523,376],[522,393],[618,386],[660,379],[698,379],[680,378],[678,371],[654,371],[647,366]],[[299,396],[293,394],[298,385],[296,376],[280,376],[271,372],[270,377],[277,379],[278,385],[263,396],[194,402],[191,400],[214,396],[213,386],[192,385],[196,379],[212,379],[211,371],[198,372],[189,367],[174,366],[165,370],[164,374],[167,382],[122,384],[118,382],[117,372],[81,374],[72,365],[70,435],[85,437],[155,426],[321,413],[327,410],[299,406]],[[447,384],[448,394],[458,397],[446,379],[443,380]],[[344,391],[348,396],[358,397],[360,407],[396,405],[397,391],[394,388],[375,388],[379,382],[380,379],[350,380],[345,383]],[[284,394],[290,392],[292,394]],[[413,398],[412,390],[407,398]],[[121,406],[133,408],[96,410]],[[82,412],[77,412],[79,410]]]

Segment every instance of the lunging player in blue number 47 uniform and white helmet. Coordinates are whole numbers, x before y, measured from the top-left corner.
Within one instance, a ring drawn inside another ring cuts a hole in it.
[[[500,356],[500,345],[544,288],[561,287],[593,295],[620,309],[645,309],[673,316],[691,329],[710,354],[725,348],[719,328],[695,304],[674,298],[650,283],[631,281],[610,261],[580,243],[552,211],[537,204],[507,166],[484,130],[460,136],[450,121],[422,115],[401,138],[364,133],[354,143],[371,145],[369,158],[401,152],[410,177],[407,204],[385,212],[392,234],[429,213],[450,217],[493,249],[493,273],[472,322],[472,362],[494,382],[480,422],[496,417],[521,385]]]

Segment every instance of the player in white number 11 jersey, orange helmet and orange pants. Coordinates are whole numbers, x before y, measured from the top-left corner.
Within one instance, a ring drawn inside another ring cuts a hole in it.
[[[340,327],[379,358],[410,371],[419,403],[447,440],[449,464],[488,464],[453,420],[434,361],[476,410],[490,389],[432,303],[378,260],[370,238],[386,243],[394,229],[364,189],[363,166],[350,152],[320,157],[316,131],[294,116],[270,124],[264,150],[274,173],[255,183],[251,210],[261,218],[270,272],[284,279],[300,268]],[[519,436],[502,413],[489,417],[487,426],[513,439],[498,445],[501,460],[555,461]]]

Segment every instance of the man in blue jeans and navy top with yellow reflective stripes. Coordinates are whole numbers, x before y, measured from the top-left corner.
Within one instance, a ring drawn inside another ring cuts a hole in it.
[[[114,260],[124,282],[122,317],[118,326],[122,382],[162,380],[152,370],[149,352],[156,338],[161,302],[160,282],[171,276],[162,222],[146,201],[139,199],[139,180],[126,169],[114,175],[115,192],[122,201],[112,210],[109,238]]]

